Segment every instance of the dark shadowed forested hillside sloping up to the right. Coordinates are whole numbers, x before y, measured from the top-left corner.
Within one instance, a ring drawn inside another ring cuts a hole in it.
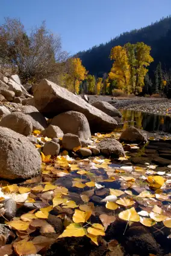
[[[152,23],[148,27],[120,34],[110,42],[95,45],[87,51],[80,51],[76,56],[81,58],[82,64],[86,70],[89,70],[89,74],[99,77],[111,69],[112,61],[109,58],[111,48],[116,45],[123,46],[127,42],[131,44],[145,42],[151,46],[151,56],[154,58],[154,62],[149,67],[150,74],[153,73],[158,62],[161,62],[164,69],[169,69],[171,67],[171,16]]]

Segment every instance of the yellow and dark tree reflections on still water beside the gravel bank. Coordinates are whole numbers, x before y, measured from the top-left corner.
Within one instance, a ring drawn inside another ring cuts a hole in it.
[[[150,114],[134,110],[120,110],[122,113],[123,129],[132,125],[146,131],[171,132],[171,117],[160,114]]]

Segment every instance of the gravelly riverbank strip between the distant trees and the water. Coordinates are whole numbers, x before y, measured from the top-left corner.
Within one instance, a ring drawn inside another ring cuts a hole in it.
[[[137,110],[156,114],[171,115],[171,100],[153,97],[111,97],[90,95],[90,103],[104,100],[111,103],[117,109]]]

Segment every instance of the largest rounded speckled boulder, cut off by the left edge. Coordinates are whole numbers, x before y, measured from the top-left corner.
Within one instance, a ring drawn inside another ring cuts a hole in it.
[[[0,127],[0,177],[30,179],[40,174],[42,160],[25,136]]]

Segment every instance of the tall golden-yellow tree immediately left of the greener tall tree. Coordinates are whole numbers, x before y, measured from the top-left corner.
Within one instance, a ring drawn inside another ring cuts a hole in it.
[[[114,63],[109,73],[109,78],[117,81],[119,89],[129,93],[130,67],[126,49],[120,45],[113,47],[110,58],[114,60]]]

